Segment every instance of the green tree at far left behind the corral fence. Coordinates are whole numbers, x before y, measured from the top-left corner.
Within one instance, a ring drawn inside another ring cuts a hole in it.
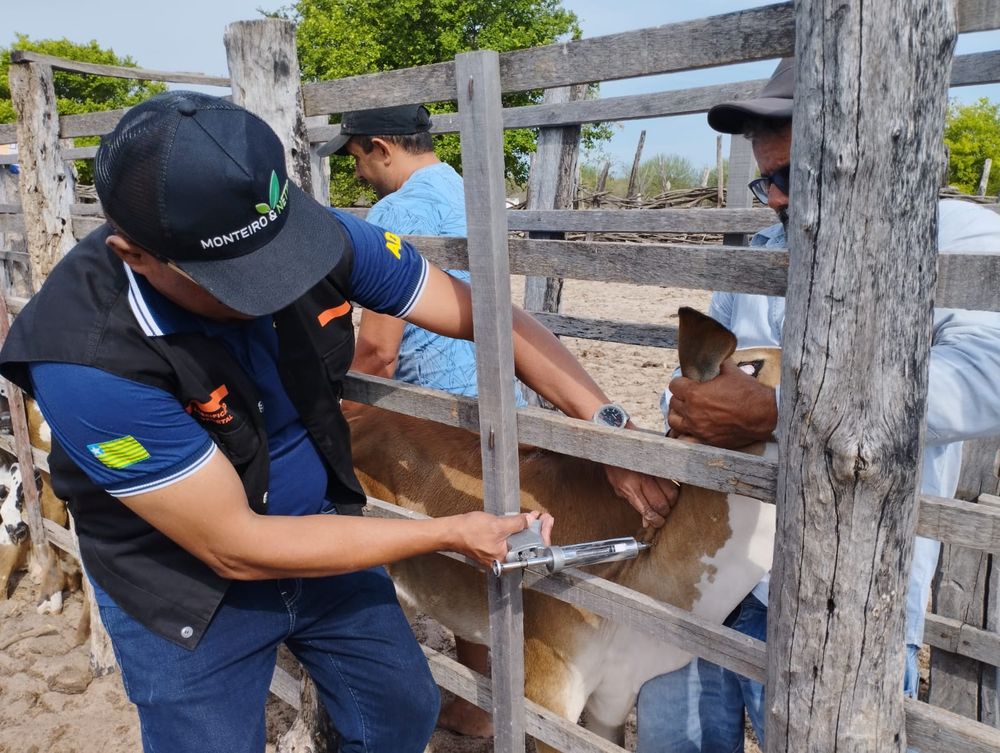
[[[0,48],[0,123],[13,123],[17,119],[14,105],[10,99],[10,84],[8,83],[11,50],[28,50],[83,63],[136,67],[132,58],[119,57],[115,55],[113,50],[103,49],[93,40],[87,44],[77,44],[68,39],[31,40],[24,34],[17,34],[16,40],[10,48]],[[85,112],[131,107],[154,94],[166,91],[166,86],[161,83],[94,76],[89,73],[55,71],[52,78],[56,92],[56,106],[60,115],[78,115]],[[97,143],[97,139],[81,138],[77,139],[76,143],[77,146],[92,146]],[[81,182],[92,182],[93,168],[91,163],[80,160],[76,165]]]

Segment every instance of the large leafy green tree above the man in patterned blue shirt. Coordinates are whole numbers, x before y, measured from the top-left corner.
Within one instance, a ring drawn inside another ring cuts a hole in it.
[[[564,10],[561,0],[393,0],[391,3],[358,3],[354,0],[297,0],[276,15],[297,23],[299,65],[303,80],[322,81],[362,73],[408,68],[454,59],[471,50],[498,52],[577,39],[576,15]],[[504,97],[504,106],[540,101],[540,92]],[[454,111],[454,103],[432,105],[432,111]],[[587,138],[600,138],[588,131]],[[507,176],[523,183],[535,135],[529,130],[505,133]],[[459,168],[458,137],[438,137],[436,151],[442,160]],[[347,159],[332,164],[331,200],[353,203],[361,187],[348,176]]]

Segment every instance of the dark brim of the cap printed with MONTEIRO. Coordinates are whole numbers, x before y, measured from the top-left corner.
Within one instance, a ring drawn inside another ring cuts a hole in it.
[[[250,316],[280,311],[329,274],[347,245],[344,229],[329,210],[291,181],[286,211],[278,235],[252,253],[175,263],[236,311]]]

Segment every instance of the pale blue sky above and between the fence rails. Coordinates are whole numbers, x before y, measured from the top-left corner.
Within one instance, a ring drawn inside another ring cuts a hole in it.
[[[374,1],[374,0],[372,0]],[[389,1],[391,0],[379,0]],[[260,18],[260,8],[275,10],[289,0],[0,0],[0,46],[9,47],[15,32],[32,39],[61,39],[86,43],[96,40],[117,55],[130,56],[138,65],[161,71],[188,71],[226,76],[222,35],[233,21]],[[602,36],[649,26],[687,21],[719,13],[767,5],[769,0],[563,0],[576,13],[585,37]],[[957,53],[1000,49],[1000,31],[963,34]],[[767,78],[775,61],[725,66],[701,71],[607,82],[601,96],[642,94]],[[224,93],[225,90],[218,90]],[[1000,84],[963,87],[952,91],[960,102],[989,97],[1000,102]],[[714,165],[717,134],[704,115],[630,121],[615,128],[604,147],[613,171],[625,172],[645,129],[643,158],[677,154],[695,168]],[[728,154],[728,138],[723,148]],[[600,159],[591,156],[592,161]]]

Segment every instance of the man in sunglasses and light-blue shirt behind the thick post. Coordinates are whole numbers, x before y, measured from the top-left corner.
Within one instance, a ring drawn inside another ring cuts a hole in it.
[[[709,110],[717,131],[749,138],[761,177],[754,196],[780,222],[757,233],[752,246],[786,248],[795,62],[781,61],[758,97]],[[875,208],[877,209],[877,208]],[[974,204],[939,202],[942,253],[1000,253],[1000,217]],[[739,347],[780,346],[784,298],[715,293],[709,314],[729,327]],[[922,492],[952,497],[958,484],[962,440],[1000,434],[1000,392],[991,382],[1000,369],[1000,315],[937,309],[934,316]],[[777,393],[724,365],[716,379],[698,384],[674,379],[661,403],[669,430],[722,447],[768,439],[777,425]],[[904,690],[918,689],[917,651],[940,545],[918,536],[907,595]],[[763,640],[768,579],[759,583],[726,624]],[[639,697],[638,753],[743,750],[744,708],[763,742],[763,686],[696,659],[650,680]]]

